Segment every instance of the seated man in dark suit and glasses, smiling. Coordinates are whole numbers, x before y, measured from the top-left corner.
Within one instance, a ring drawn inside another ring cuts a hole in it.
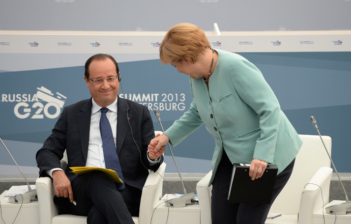
[[[155,136],[148,108],[118,97],[120,74],[118,64],[108,54],[96,54],[87,60],[84,79],[92,98],[63,109],[36,155],[40,176],[53,179],[54,203],[61,213],[88,216],[87,223],[134,223],[132,216],[138,215],[148,170],[156,171],[163,162],[165,148],[158,155],[148,153],[148,144]],[[105,160],[109,156],[104,155],[107,150],[100,134],[102,107],[108,108],[105,117],[116,152],[112,153],[118,155],[124,185],[99,171],[70,173],[69,167],[73,166],[107,168]],[[63,171],[60,160],[65,150],[68,165]],[[71,203],[74,201],[76,206]]]

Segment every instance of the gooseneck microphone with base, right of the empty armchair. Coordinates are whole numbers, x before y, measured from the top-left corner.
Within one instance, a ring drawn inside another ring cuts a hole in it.
[[[331,161],[332,164],[333,164],[335,173],[336,173],[336,175],[337,175],[338,178],[339,178],[339,181],[340,181],[340,183],[341,183],[342,189],[344,190],[345,197],[346,197],[346,202],[343,202],[343,203],[340,203],[340,204],[336,204],[336,205],[332,205],[332,206],[328,206],[328,207],[326,207],[326,212],[329,213],[329,214],[336,214],[336,215],[345,215],[345,214],[347,214],[347,213],[351,213],[351,202],[348,200],[345,187],[344,187],[344,185],[342,184],[341,178],[340,178],[340,176],[339,176],[339,174],[338,174],[338,172],[337,172],[337,170],[336,170],[336,167],[335,167],[335,165],[334,165],[334,162],[333,162],[333,160],[332,160],[332,157],[331,157],[330,153],[329,153],[328,150],[327,150],[326,144],[324,144],[323,138],[321,137],[321,135],[320,135],[320,133],[319,133],[318,126],[317,126],[317,122],[316,122],[316,120],[314,119],[313,116],[311,116],[311,121],[312,121],[312,124],[313,124],[314,128],[317,130],[317,132],[318,132],[318,134],[319,134],[319,137],[320,137],[320,139],[321,139],[321,142],[323,143],[323,146],[324,146],[324,148],[325,148],[326,151],[327,151],[327,154],[328,154],[328,156],[329,156],[330,161]]]

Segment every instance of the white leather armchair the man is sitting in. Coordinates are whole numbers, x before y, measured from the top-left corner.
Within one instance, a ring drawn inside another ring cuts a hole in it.
[[[155,131],[157,133],[162,133]],[[65,160],[66,158],[66,160]],[[67,157],[61,161],[65,169]],[[133,217],[135,224],[150,224],[154,205],[162,198],[163,176],[166,163],[163,162],[157,173],[150,171],[150,174],[142,188],[139,217]],[[44,224],[86,224],[86,216],[58,215],[58,208],[53,203],[55,194],[52,179],[40,177],[36,181],[36,189],[39,201],[39,222]]]

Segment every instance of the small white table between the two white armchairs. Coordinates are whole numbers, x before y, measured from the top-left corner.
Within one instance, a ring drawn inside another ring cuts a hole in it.
[[[200,224],[200,207],[197,204],[182,208],[167,207],[161,199],[154,205],[151,222],[153,224]]]

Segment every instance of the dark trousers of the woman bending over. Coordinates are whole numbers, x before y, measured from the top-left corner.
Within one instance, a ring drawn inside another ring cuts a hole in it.
[[[229,203],[227,201],[233,165],[223,150],[216,176],[212,182],[212,224],[264,224],[268,212],[293,172],[295,159],[277,175],[271,204]]]

